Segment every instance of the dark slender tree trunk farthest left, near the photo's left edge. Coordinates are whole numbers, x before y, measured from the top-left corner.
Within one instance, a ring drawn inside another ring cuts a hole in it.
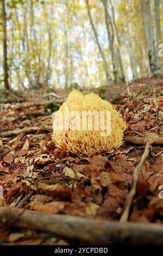
[[[8,74],[8,58],[7,58],[7,17],[5,12],[4,0],[1,0],[2,5],[2,21],[3,21],[3,70],[4,70],[4,87],[10,90],[9,87],[9,74]]]

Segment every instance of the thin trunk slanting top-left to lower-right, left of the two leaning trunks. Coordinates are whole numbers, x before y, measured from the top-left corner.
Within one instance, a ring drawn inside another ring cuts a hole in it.
[[[97,31],[96,31],[96,28],[93,24],[93,20],[92,20],[92,17],[91,17],[91,11],[90,11],[90,5],[89,5],[89,0],[85,0],[86,2],[86,6],[87,6],[87,14],[89,16],[89,20],[90,20],[90,23],[91,23],[91,26],[92,26],[92,29],[93,29],[93,33],[95,35],[95,40],[96,40],[96,44],[98,46],[98,50],[101,54],[101,57],[102,57],[102,61],[103,61],[103,66],[104,66],[104,71],[105,71],[105,75],[106,75],[106,81],[107,82],[110,82],[111,80],[111,77],[110,77],[110,74],[109,74],[109,69],[108,69],[108,64],[106,62],[106,59],[105,59],[105,55],[104,55],[104,52],[102,50],[102,47],[101,47],[101,44],[98,40],[98,35],[97,35]]]

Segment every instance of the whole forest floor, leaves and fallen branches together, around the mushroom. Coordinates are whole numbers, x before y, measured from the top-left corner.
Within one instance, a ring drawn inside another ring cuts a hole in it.
[[[136,244],[132,230],[142,243],[162,242],[163,80],[128,88],[130,95],[125,84],[82,89],[111,102],[128,124],[121,148],[92,157],[63,153],[52,141],[46,106],[60,105],[66,90],[55,90],[59,99],[42,97],[45,89],[1,94],[1,245],[125,243],[125,232]]]

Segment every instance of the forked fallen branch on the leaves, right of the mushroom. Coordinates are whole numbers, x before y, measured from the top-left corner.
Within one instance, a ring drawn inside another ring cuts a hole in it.
[[[133,202],[133,198],[136,194],[136,185],[137,185],[137,180],[139,177],[139,173],[140,170],[142,168],[143,163],[145,162],[148,154],[149,154],[149,149],[150,146],[153,144],[163,144],[163,137],[153,137],[153,138],[138,138],[138,137],[126,137],[125,141],[127,142],[131,142],[131,143],[135,143],[135,144],[145,144],[146,143],[146,147],[145,147],[145,151],[143,153],[143,155],[141,156],[140,162],[137,164],[137,166],[134,169],[133,172],[133,187],[131,188],[130,193],[128,194],[127,200],[126,200],[126,204],[124,206],[124,211],[123,214],[120,218],[120,222],[127,222],[128,217],[129,217],[129,213],[130,213],[130,209],[131,209],[131,205]]]

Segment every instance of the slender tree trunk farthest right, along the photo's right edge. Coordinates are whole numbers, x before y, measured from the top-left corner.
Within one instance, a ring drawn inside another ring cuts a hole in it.
[[[159,57],[159,45],[161,44],[161,28],[160,28],[160,0],[154,0],[155,4],[155,21],[156,21],[156,67],[161,75],[161,58]]]

